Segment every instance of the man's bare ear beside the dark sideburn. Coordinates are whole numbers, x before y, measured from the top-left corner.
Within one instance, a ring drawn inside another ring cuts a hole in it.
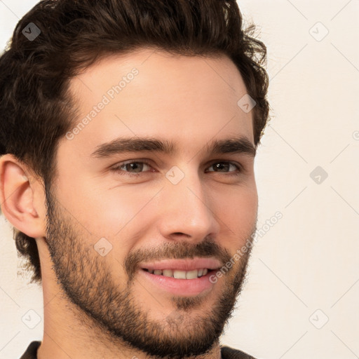
[[[13,226],[32,238],[45,237],[43,187],[32,171],[11,154],[0,158],[1,210]],[[36,205],[35,205],[36,203]],[[37,207],[37,208],[36,208]],[[40,213],[40,215],[39,215]]]

